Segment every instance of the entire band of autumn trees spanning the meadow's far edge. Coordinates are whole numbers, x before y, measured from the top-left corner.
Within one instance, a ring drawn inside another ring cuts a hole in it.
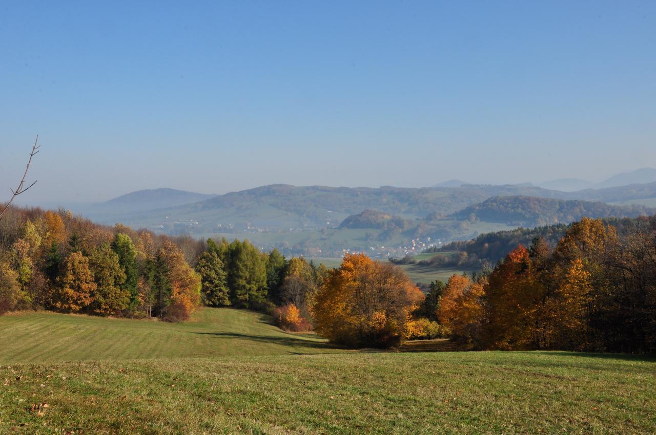
[[[655,352],[656,217],[584,218],[555,245],[537,236],[489,271],[426,290],[365,254],[329,270],[247,240],[154,235],[64,210],[11,208],[0,221],[0,313],[181,321],[207,305],[274,314],[349,347],[449,335],[478,349]]]

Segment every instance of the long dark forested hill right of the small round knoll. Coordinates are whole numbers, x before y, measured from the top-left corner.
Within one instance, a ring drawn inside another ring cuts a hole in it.
[[[454,219],[513,223],[525,227],[569,223],[581,217],[638,217],[656,213],[640,205],[612,206],[604,202],[536,197],[493,197],[451,215]]]

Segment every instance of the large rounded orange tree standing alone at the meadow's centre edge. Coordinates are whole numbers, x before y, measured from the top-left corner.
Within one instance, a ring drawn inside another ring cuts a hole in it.
[[[352,347],[399,345],[407,335],[410,314],[422,299],[396,265],[347,254],[317,294],[316,331],[333,343]]]

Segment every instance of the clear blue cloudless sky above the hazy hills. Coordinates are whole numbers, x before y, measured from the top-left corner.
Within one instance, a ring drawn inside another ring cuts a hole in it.
[[[656,166],[656,2],[5,1],[0,193],[37,133],[39,201],[598,181]]]

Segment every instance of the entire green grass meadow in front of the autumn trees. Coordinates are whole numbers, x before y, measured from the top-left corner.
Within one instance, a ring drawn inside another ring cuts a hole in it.
[[[13,314],[0,340],[0,434],[656,432],[649,358],[354,352],[227,309]]]

